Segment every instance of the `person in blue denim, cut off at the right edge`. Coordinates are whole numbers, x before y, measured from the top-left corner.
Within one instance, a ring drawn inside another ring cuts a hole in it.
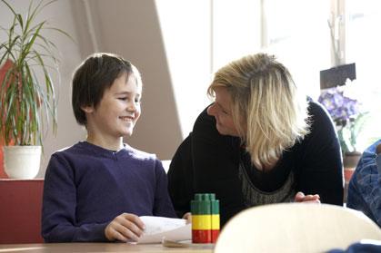
[[[367,148],[358,162],[346,207],[363,211],[381,227],[381,140]]]

